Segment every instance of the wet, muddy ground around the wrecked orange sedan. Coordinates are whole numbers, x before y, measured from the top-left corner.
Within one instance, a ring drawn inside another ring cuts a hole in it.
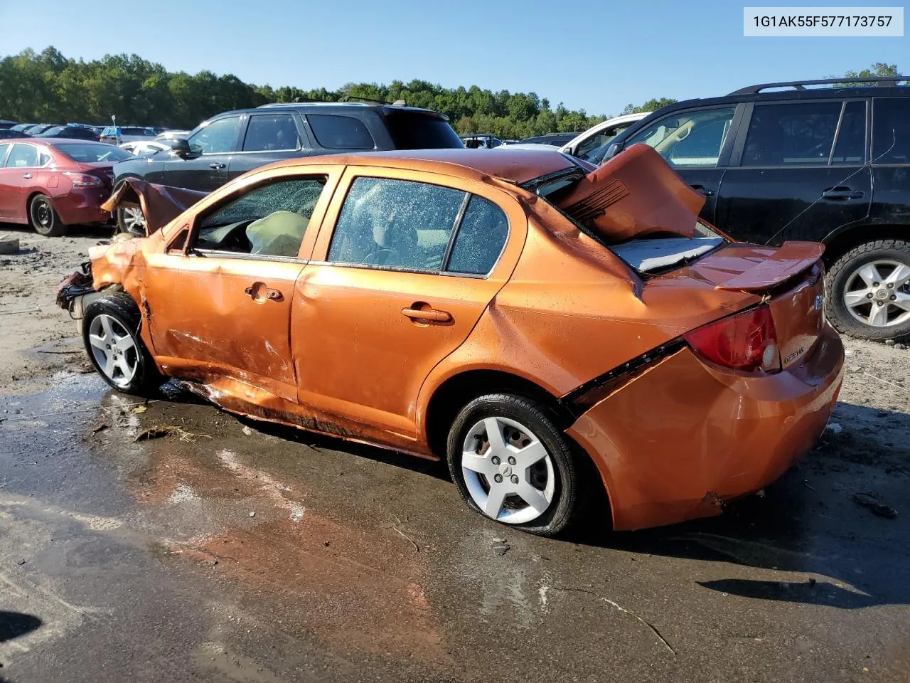
[[[544,540],[435,464],[108,391],[53,304],[105,232],[3,232],[0,679],[910,680],[910,352],[847,341],[763,496]]]

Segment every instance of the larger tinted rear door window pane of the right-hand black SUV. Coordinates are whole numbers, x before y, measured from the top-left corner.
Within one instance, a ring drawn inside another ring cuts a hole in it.
[[[826,165],[842,107],[842,102],[755,105],[742,165]]]

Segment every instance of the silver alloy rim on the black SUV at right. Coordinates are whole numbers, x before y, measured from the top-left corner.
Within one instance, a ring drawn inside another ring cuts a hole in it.
[[[874,260],[854,270],[844,288],[844,305],[858,321],[892,327],[910,321],[910,266]]]

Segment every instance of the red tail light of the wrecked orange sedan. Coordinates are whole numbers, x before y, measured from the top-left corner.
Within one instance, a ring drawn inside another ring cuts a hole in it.
[[[731,315],[684,335],[705,360],[742,372],[779,372],[781,354],[766,305]]]

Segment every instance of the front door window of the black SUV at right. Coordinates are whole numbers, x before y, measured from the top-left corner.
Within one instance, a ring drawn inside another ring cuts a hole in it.
[[[700,109],[663,117],[636,133],[624,147],[650,145],[677,168],[715,168],[730,132],[734,107]]]

